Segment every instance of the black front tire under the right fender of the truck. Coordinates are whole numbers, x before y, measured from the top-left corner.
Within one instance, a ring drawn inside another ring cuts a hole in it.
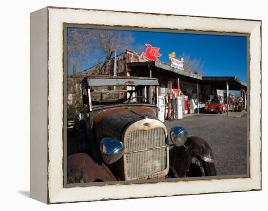
[[[199,156],[196,156],[192,158],[186,176],[187,177],[217,176],[217,172],[214,163],[206,162],[202,160]]]

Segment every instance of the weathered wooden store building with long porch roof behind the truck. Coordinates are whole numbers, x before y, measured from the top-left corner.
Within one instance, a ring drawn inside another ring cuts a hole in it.
[[[247,98],[247,84],[235,76],[202,76],[174,66],[172,67],[172,64],[149,60],[142,56],[142,54],[130,50],[86,69],[79,74],[154,77],[159,81],[161,95],[167,95],[168,83],[172,82],[172,90],[176,95],[178,95],[180,90],[180,93],[187,95],[188,99],[197,99],[198,104],[205,104],[208,100],[215,97],[220,97],[223,102],[227,103],[226,98],[229,98],[229,96],[219,96],[217,90],[238,90],[241,91],[243,102],[246,102]],[[246,103],[243,106],[246,109]]]

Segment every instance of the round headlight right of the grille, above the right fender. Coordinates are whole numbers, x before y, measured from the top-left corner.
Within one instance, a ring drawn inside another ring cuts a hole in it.
[[[187,129],[179,126],[172,127],[170,137],[174,145],[182,146],[188,138]]]

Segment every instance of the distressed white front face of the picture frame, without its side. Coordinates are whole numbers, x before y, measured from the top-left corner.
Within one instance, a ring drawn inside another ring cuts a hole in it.
[[[250,33],[250,178],[63,188],[63,23]],[[261,189],[261,21],[48,8],[49,203]],[[252,88],[253,87],[253,88]],[[254,112],[253,112],[254,111]]]

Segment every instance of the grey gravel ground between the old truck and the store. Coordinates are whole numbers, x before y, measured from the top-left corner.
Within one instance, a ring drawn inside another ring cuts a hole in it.
[[[208,141],[219,176],[247,174],[246,113],[241,117],[201,114],[165,121],[165,125],[168,131],[172,126],[183,126],[189,136],[199,136]]]

